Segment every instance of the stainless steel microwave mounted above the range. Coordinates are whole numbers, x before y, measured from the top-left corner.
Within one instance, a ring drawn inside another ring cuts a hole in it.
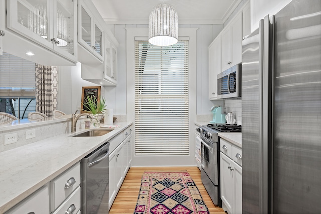
[[[217,98],[241,98],[242,64],[217,75]]]

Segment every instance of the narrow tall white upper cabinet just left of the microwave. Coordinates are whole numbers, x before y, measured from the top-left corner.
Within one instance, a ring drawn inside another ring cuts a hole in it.
[[[221,34],[209,46],[209,99],[217,99],[217,75],[221,73]]]

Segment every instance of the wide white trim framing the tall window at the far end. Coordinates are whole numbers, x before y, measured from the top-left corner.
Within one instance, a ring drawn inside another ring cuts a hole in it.
[[[179,28],[179,38],[189,38],[189,155],[133,156],[132,166],[196,166],[196,31],[198,28]],[[126,28],[127,119],[135,125],[135,38],[148,37],[148,28]],[[135,133],[133,133],[135,136]],[[134,139],[133,139],[134,140]],[[133,142],[133,145],[135,143]],[[132,152],[134,154],[134,147]]]

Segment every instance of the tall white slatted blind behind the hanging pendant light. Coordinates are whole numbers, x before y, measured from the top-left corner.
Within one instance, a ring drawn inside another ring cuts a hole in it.
[[[135,155],[189,154],[188,41],[135,41]]]

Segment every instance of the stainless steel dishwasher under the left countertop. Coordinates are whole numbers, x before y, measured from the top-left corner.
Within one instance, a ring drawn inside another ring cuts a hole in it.
[[[80,162],[81,214],[108,214],[109,142]]]

